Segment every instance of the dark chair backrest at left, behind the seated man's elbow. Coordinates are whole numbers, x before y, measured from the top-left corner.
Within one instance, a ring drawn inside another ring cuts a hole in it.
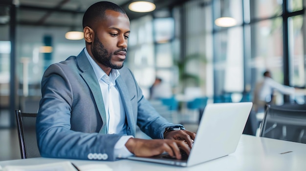
[[[40,157],[36,140],[36,116],[37,114],[21,113],[15,111],[21,158]]]

